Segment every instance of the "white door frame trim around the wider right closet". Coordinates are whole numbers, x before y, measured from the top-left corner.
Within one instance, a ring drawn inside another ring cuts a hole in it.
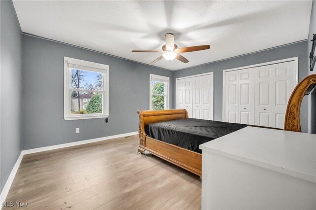
[[[244,67],[238,67],[238,68],[234,68],[234,69],[223,70],[222,121],[225,122],[225,72],[234,71],[234,70],[251,69],[251,68],[262,67],[262,66],[269,66],[269,65],[273,65],[273,64],[280,64],[280,63],[285,63],[285,62],[290,62],[290,61],[294,61],[294,72],[295,72],[295,84],[294,85],[297,85],[298,84],[299,57],[286,58],[286,59],[281,59],[281,60],[276,60],[276,61],[271,61],[271,62],[266,62],[266,63],[261,63],[261,64],[255,64],[255,65],[250,65],[250,66],[244,66]]]

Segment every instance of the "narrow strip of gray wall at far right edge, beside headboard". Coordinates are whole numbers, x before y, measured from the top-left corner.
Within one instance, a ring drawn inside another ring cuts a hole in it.
[[[311,21],[310,21],[310,32],[308,35],[308,47],[307,53],[308,56],[312,50],[312,43],[310,40],[313,39],[313,34],[316,34],[316,3],[313,1],[312,12],[311,12]],[[308,59],[308,66],[310,66],[310,58]],[[316,67],[313,71],[309,71],[309,74],[316,73]],[[306,98],[306,97],[305,97]],[[308,111],[309,111],[309,132],[316,134],[316,88],[308,96]]]

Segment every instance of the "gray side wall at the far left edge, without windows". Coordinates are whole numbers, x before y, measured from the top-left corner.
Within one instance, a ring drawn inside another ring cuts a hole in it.
[[[22,149],[22,34],[11,1],[0,1],[1,191]]]

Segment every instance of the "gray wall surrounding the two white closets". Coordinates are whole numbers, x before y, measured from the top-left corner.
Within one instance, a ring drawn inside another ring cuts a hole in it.
[[[214,120],[222,121],[223,70],[276,61],[285,58],[299,57],[299,80],[301,80],[308,75],[306,49],[307,41],[302,41],[236,58],[175,71],[173,82],[174,95],[176,91],[176,78],[214,71]],[[173,99],[173,104],[175,107],[175,98]],[[307,100],[302,102],[302,107],[304,107],[301,109],[302,131],[307,132]]]

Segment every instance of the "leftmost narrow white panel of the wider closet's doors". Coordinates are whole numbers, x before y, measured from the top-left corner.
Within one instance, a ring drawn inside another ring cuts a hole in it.
[[[238,123],[239,72],[225,72],[225,122]]]

